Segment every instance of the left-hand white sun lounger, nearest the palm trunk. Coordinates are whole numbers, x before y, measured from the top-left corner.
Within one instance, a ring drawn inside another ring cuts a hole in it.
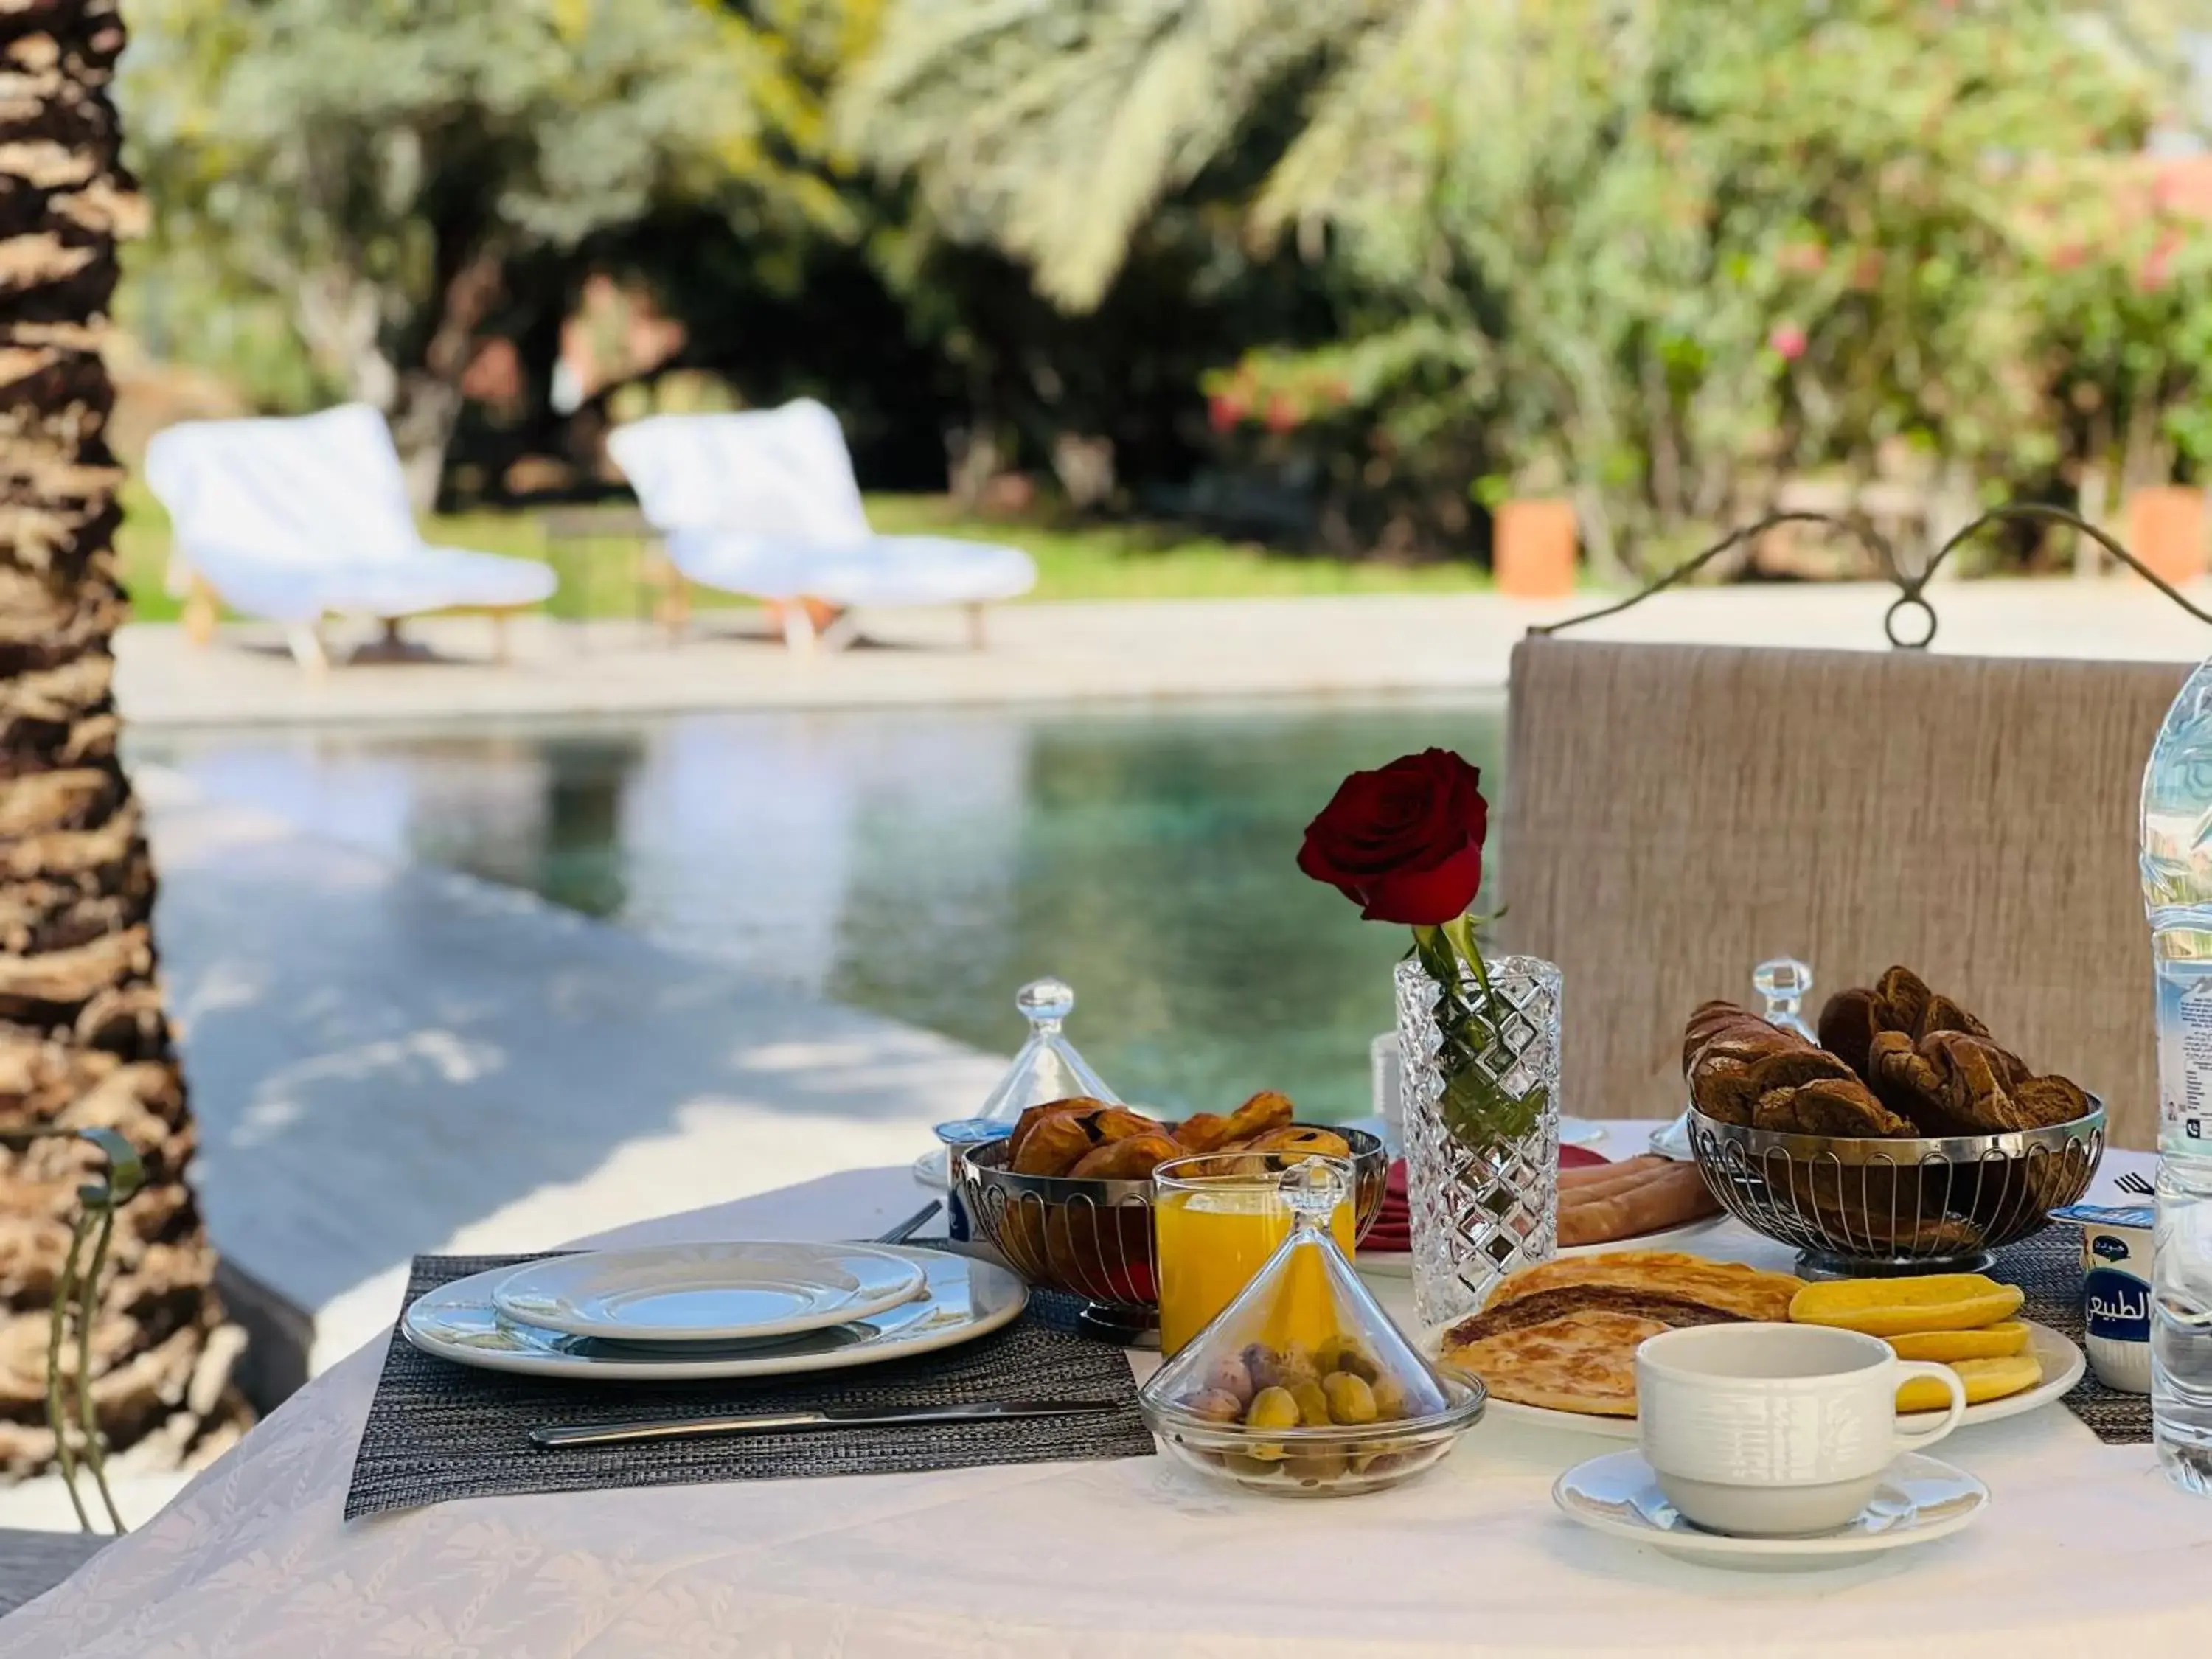
[[[270,420],[188,420],[146,447],[146,482],[168,509],[170,593],[192,595],[206,639],[212,595],[288,626],[292,655],[323,666],[327,615],[383,622],[425,611],[507,611],[553,593],[553,571],[429,546],[385,418],[365,403]],[[504,630],[500,635],[504,655]]]

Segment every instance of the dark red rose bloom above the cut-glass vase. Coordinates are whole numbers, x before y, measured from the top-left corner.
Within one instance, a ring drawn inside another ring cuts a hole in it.
[[[1298,869],[1369,922],[1438,927],[1475,902],[1486,830],[1482,774],[1451,750],[1422,750],[1345,779],[1305,825]]]

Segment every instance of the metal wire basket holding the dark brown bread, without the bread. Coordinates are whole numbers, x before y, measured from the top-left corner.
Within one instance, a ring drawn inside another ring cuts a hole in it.
[[[1787,1135],[1690,1113],[1705,1186],[1796,1245],[1807,1279],[1982,1272],[2075,1203],[2104,1157],[2104,1102],[2070,1124],[1958,1139]]]

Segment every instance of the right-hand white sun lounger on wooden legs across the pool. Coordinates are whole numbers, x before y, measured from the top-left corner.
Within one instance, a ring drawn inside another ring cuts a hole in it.
[[[1015,546],[878,535],[867,524],[836,416],[812,398],[781,409],[648,416],[608,451],[630,478],[670,564],[708,588],[781,602],[785,641],[814,644],[805,599],[843,606],[982,606],[1037,582]]]

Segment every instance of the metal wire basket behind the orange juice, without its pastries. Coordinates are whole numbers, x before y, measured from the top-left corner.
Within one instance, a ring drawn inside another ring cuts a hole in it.
[[[1352,1148],[1354,1237],[1365,1239],[1383,1210],[1389,1152],[1360,1128],[1314,1124]],[[1033,1285],[1064,1290],[1088,1305],[1082,1323],[1128,1347],[1157,1340],[1159,1276],[1152,1261],[1152,1181],[1095,1181],[1073,1175],[1015,1175],[1006,1141],[958,1159],[960,1203],[975,1237]]]

